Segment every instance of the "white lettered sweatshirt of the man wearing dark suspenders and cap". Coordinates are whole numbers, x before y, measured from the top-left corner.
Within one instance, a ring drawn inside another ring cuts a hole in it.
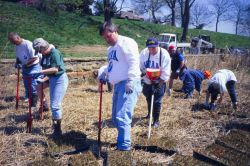
[[[160,63],[160,51],[161,51],[161,63]],[[149,60],[149,66],[147,62]],[[164,81],[168,81],[171,73],[171,59],[169,53],[160,47],[155,55],[150,55],[149,50],[145,48],[141,51],[140,54],[140,69],[141,71],[146,71],[146,68],[160,69],[161,75],[160,78]],[[143,80],[146,84],[151,84],[149,78],[145,75]]]

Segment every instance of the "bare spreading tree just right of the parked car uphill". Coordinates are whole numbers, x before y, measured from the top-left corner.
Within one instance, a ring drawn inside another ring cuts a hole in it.
[[[158,23],[156,12],[164,5],[164,0],[134,0],[135,10],[140,14],[149,13],[154,23]]]

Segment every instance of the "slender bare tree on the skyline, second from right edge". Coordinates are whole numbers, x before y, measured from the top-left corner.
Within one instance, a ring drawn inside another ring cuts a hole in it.
[[[228,21],[230,19],[229,12],[232,9],[232,2],[230,0],[213,0],[211,3],[212,14],[216,18],[215,32],[218,32],[218,24],[221,21]]]

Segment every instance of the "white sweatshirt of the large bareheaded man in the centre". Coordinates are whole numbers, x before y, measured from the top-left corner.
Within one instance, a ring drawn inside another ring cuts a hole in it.
[[[138,45],[135,40],[118,36],[117,43],[108,48],[108,78],[116,84],[123,80],[140,79]]]

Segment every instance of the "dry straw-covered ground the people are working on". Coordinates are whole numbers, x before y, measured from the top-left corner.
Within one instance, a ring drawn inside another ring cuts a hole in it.
[[[248,58],[217,55],[187,57],[186,59],[187,66],[190,68],[208,69],[212,73],[222,68],[233,70],[238,79],[237,94],[240,104],[237,111],[249,111]],[[75,65],[79,68],[79,64]],[[91,72],[100,65],[94,63]],[[10,64],[1,64],[0,70],[0,165],[102,164],[96,155],[100,94],[97,81],[91,75],[84,79],[70,79],[62,105],[64,134],[58,140],[50,137],[50,112],[45,113],[44,120],[39,120],[38,113],[35,112],[32,133],[26,133],[28,104],[21,100],[19,110],[15,110],[16,75],[14,68]],[[203,90],[206,89],[206,83],[206,81],[203,82]],[[180,88],[181,82],[175,81],[174,89]],[[23,95],[22,83],[20,93]],[[46,94],[48,96],[48,90]],[[160,116],[161,126],[152,129],[150,140],[147,139],[148,121],[143,118],[147,114],[147,105],[145,97],[141,94],[133,116],[133,149],[131,152],[119,152],[115,150],[117,131],[111,121],[112,94],[105,91],[101,139],[102,155],[106,156],[109,165],[167,165],[171,163],[206,165],[192,158],[193,149],[205,147],[217,137],[226,134],[223,124],[235,117],[230,114],[218,114],[219,111],[233,112],[228,95],[218,110],[211,112],[199,109],[199,104],[205,100],[205,93],[200,97],[197,92],[194,94],[193,99],[183,99],[184,95],[177,92],[174,92],[171,97],[164,97]],[[86,146],[89,149],[81,153],[71,155],[61,153],[72,149],[81,151]]]

